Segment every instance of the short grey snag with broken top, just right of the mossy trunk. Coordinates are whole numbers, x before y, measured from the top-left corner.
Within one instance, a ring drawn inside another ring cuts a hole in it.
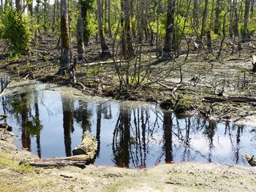
[[[84,58],[84,44],[83,44],[83,18],[78,19],[77,41],[78,41],[78,61]]]

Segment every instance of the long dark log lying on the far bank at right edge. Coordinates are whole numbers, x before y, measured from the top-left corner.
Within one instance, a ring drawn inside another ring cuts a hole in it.
[[[253,102],[256,103],[256,99],[253,97],[246,97],[246,96],[227,96],[227,97],[219,97],[219,96],[206,96],[203,99],[209,103],[222,103],[222,102],[238,102],[238,103],[249,103]]]

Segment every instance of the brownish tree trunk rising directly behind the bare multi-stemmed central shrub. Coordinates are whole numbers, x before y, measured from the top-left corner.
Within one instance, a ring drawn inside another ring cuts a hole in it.
[[[131,37],[131,26],[129,23],[129,7],[131,5],[130,0],[121,1],[121,26],[122,26],[122,37],[121,37],[121,51],[126,58],[135,57],[135,52],[132,47],[132,37]]]

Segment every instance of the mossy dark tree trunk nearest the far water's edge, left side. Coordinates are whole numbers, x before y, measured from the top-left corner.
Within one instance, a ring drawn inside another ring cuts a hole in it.
[[[64,71],[69,69],[69,18],[67,14],[67,0],[61,0],[61,68],[57,74],[64,75]]]

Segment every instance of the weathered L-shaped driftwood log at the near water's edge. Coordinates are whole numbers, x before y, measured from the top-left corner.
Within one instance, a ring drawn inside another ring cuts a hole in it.
[[[80,145],[73,150],[73,156],[66,158],[47,158],[36,159],[33,161],[21,161],[20,164],[29,164],[30,166],[49,167],[49,166],[78,166],[86,167],[94,160],[97,150],[97,139],[91,134],[83,134]]]

